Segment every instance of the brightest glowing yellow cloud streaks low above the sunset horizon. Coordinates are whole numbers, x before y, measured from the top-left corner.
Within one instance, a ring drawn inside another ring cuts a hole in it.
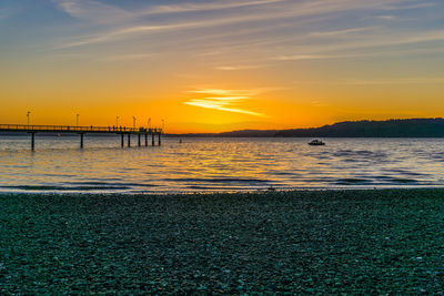
[[[191,99],[184,104],[200,106],[204,109],[214,109],[225,112],[242,113],[252,116],[265,116],[263,113],[241,109],[238,104],[241,101],[250,100],[252,95],[261,92],[261,90],[219,90],[219,89],[205,89],[189,91],[196,94],[205,94],[204,98]],[[216,95],[216,96],[214,96]]]

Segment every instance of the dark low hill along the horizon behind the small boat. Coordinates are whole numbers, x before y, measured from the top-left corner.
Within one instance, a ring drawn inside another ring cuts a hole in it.
[[[444,119],[346,121],[311,129],[282,131],[242,130],[174,136],[215,137],[444,137]]]

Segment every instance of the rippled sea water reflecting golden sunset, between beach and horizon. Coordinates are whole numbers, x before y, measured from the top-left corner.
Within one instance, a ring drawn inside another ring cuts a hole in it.
[[[162,139],[0,135],[0,192],[178,193],[444,186],[444,139]],[[144,144],[144,141],[142,141]],[[151,144],[151,141],[149,141]],[[127,145],[127,139],[125,139]]]

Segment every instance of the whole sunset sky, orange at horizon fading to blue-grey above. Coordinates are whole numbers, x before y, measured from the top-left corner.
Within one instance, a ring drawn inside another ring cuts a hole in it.
[[[443,93],[442,0],[0,1],[0,123],[309,127]]]

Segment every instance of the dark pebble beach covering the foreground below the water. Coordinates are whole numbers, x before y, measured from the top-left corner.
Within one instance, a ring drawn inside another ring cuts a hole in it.
[[[0,294],[440,294],[444,190],[0,195]]]

